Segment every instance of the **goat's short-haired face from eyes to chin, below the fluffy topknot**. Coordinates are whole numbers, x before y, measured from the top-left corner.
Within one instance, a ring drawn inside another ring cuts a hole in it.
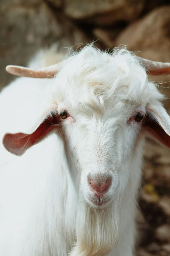
[[[107,206],[122,195],[131,171],[129,160],[137,157],[142,138],[145,108],[114,102],[103,101],[103,107],[97,110],[96,106],[95,111],[87,105],[86,110],[80,107],[78,111],[78,106],[73,110],[68,102],[58,108],[73,179],[94,207]]]

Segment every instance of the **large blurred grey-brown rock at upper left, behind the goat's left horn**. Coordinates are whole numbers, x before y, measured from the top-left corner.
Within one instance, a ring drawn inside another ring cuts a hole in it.
[[[0,10],[0,89],[12,79],[6,65],[25,66],[37,50],[53,43],[61,49],[88,41],[60,13],[54,15],[43,0],[2,1]]]

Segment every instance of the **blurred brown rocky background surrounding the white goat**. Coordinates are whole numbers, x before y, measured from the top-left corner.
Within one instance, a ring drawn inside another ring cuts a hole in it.
[[[92,41],[101,49],[124,44],[138,56],[170,62],[170,0],[0,0],[0,88],[13,79],[5,66],[27,65],[40,47],[57,43],[63,51]],[[170,76],[151,79],[160,82],[170,114]],[[170,151],[148,141],[144,160],[136,255],[167,256]]]

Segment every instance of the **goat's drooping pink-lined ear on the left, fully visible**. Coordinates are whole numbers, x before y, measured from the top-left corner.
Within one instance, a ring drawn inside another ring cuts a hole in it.
[[[21,156],[31,146],[41,141],[58,123],[57,109],[51,108],[40,116],[28,132],[6,133],[3,145],[10,153]]]

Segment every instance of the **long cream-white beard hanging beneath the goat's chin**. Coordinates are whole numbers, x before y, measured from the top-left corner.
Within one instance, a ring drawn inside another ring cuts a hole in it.
[[[90,206],[79,198],[76,220],[77,241],[70,256],[104,256],[118,243],[118,205],[112,203],[102,209]]]

